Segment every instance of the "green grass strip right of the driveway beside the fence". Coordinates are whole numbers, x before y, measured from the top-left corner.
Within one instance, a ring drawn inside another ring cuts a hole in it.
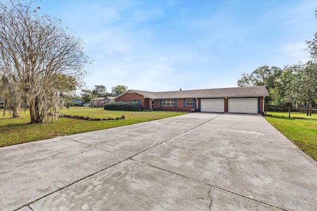
[[[285,118],[279,116],[282,115],[280,113],[282,112],[274,112],[273,115],[278,116],[264,116],[264,118],[307,155],[317,161],[317,120],[288,118],[288,113],[287,118]],[[297,115],[302,117],[301,114]]]

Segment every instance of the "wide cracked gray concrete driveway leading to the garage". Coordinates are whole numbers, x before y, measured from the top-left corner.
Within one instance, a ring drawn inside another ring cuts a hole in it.
[[[0,210],[317,210],[317,163],[260,115],[192,113],[0,148]]]

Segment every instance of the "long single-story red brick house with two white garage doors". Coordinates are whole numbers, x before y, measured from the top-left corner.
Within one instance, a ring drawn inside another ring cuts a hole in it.
[[[151,92],[129,89],[115,102],[139,102],[141,110],[264,113],[265,86]]]

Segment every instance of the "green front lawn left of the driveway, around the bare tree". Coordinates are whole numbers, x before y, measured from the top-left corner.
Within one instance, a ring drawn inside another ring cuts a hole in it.
[[[82,132],[120,127],[136,123],[148,122],[168,117],[183,115],[186,113],[176,112],[129,112],[129,111],[108,111],[104,109],[91,109],[78,107],[78,109],[61,109],[63,114],[78,115],[92,118],[113,118],[126,117],[125,120],[110,121],[85,121],[70,118],[58,118],[57,121],[48,124],[29,124],[29,111],[21,111],[20,118],[11,119],[6,112],[2,118],[3,110],[0,110],[0,147],[21,144],[31,141],[43,140],[62,135],[71,135]]]

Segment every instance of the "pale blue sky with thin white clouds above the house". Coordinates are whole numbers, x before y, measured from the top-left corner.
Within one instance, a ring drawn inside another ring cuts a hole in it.
[[[94,60],[86,88],[146,91],[236,87],[242,73],[310,60],[309,0],[42,0]]]

